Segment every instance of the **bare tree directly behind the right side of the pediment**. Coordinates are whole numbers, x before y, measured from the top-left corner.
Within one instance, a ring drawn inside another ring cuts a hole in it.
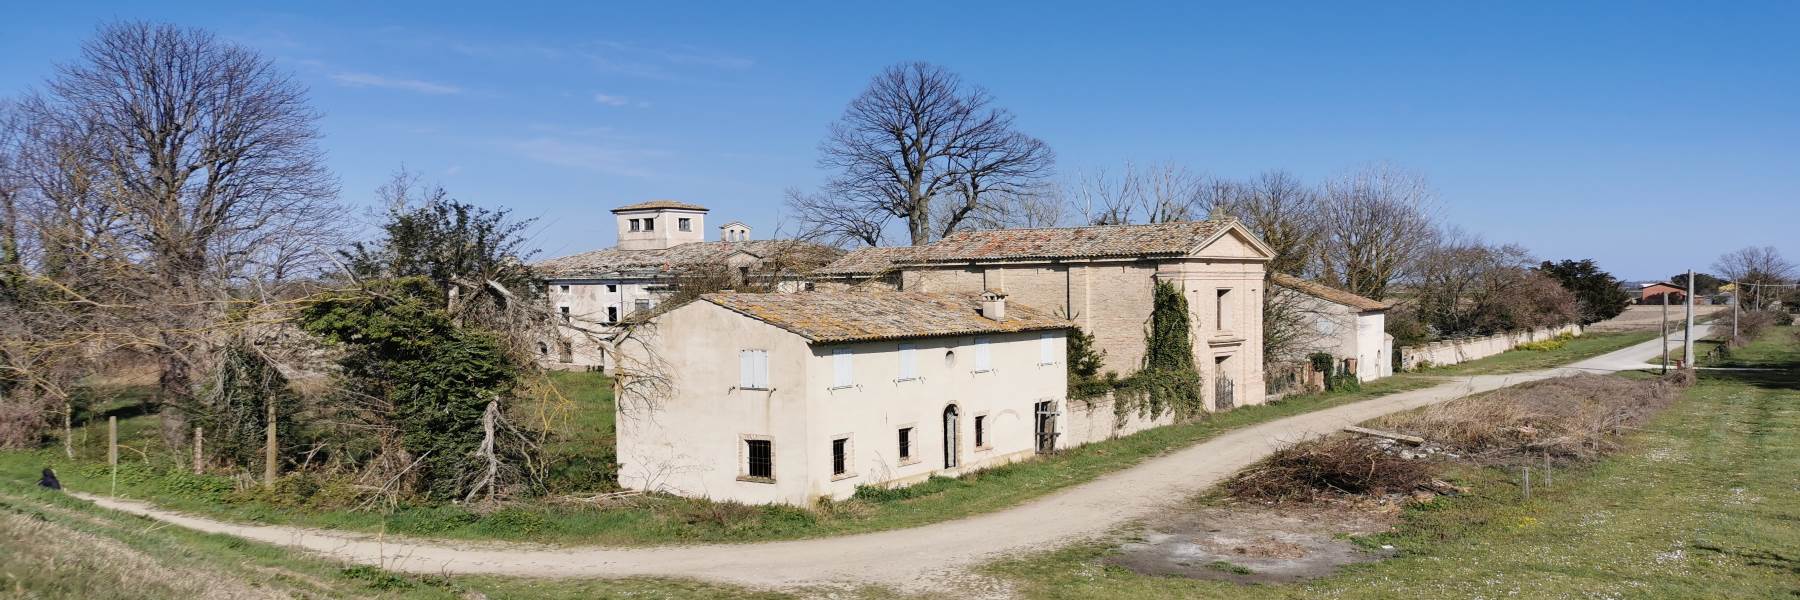
[[[1265,171],[1235,189],[1213,189],[1208,214],[1237,218],[1262,238],[1274,250],[1267,265],[1271,272],[1309,274],[1323,238],[1318,191],[1287,171]]]

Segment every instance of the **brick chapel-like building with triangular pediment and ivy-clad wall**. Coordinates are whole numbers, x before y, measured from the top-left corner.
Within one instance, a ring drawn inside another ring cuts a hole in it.
[[[1273,250],[1237,220],[954,232],[920,247],[846,254],[821,285],[1004,292],[1094,335],[1105,368],[1141,368],[1157,281],[1188,299],[1208,409],[1264,402],[1264,263]]]

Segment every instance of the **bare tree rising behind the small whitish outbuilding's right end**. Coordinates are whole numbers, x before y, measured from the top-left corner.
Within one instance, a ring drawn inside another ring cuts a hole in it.
[[[1422,175],[1370,166],[1325,182],[1323,276],[1373,299],[1404,277],[1435,238],[1436,196]]]

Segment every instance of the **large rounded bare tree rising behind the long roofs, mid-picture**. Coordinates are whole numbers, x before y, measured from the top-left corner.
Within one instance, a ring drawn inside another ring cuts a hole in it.
[[[961,227],[983,204],[1049,175],[1055,153],[1013,130],[986,90],[943,67],[904,63],[875,76],[819,144],[837,169],[821,202],[790,202],[801,222],[868,241],[868,223],[905,220],[913,245]],[[853,214],[848,222],[833,213]]]

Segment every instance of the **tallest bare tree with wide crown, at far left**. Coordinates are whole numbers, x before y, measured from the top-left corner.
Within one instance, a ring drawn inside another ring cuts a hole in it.
[[[306,90],[274,63],[211,32],[122,22],[99,29],[32,103],[45,123],[92,133],[106,195],[158,285],[151,351],[160,398],[193,395],[234,277],[286,265],[333,214]],[[270,256],[270,252],[281,256]],[[180,436],[180,418],[167,418]]]

